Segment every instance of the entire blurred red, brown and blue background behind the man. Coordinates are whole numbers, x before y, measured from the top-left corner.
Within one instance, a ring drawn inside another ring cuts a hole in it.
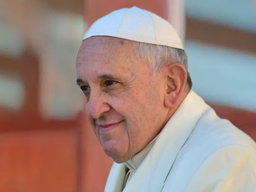
[[[95,20],[132,6],[173,24],[193,90],[256,140],[255,0],[0,0],[0,191],[104,191],[113,161],[86,120],[76,53]]]

